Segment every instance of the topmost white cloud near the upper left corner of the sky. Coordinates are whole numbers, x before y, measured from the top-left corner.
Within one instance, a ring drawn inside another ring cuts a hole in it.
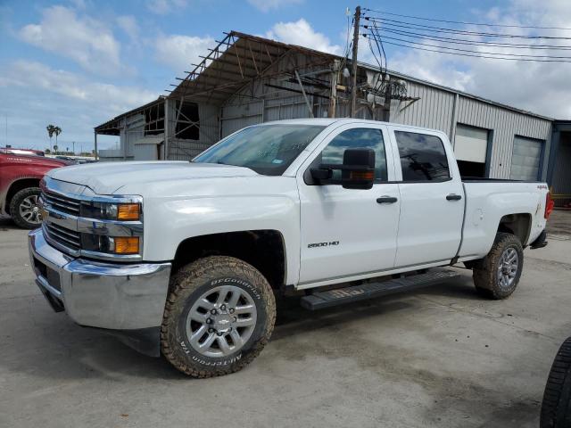
[[[18,34],[30,45],[70,58],[85,70],[112,75],[122,69],[120,43],[111,29],[66,7],[44,9],[42,21],[22,27]]]

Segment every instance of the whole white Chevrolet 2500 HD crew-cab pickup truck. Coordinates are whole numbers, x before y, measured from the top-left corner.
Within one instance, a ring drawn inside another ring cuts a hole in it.
[[[29,252],[52,307],[195,377],[251,362],[280,292],[326,308],[463,263],[504,299],[552,209],[545,183],[461,178],[440,131],[360,119],[265,123],[190,162],[53,169],[41,188]]]

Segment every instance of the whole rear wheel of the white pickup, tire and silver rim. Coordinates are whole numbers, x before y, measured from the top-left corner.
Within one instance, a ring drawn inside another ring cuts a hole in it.
[[[476,290],[490,299],[506,299],[516,290],[524,268],[524,249],[515,235],[498,233],[492,250],[473,268]]]

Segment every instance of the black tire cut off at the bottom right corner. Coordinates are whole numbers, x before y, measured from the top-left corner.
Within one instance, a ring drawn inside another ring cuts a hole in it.
[[[559,348],[543,392],[540,428],[571,426],[571,337]]]

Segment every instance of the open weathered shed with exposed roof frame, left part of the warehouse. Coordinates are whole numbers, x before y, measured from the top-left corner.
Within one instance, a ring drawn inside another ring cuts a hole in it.
[[[300,117],[345,117],[350,102],[346,58],[232,31],[158,97],[95,127],[97,135],[120,136],[108,160],[189,159],[220,137],[248,124]],[[376,91],[360,99],[360,117],[387,119],[378,72],[360,69],[363,86]],[[374,86],[377,87],[375,88]],[[401,101],[414,98],[394,91]],[[154,146],[154,147],[153,147]]]

